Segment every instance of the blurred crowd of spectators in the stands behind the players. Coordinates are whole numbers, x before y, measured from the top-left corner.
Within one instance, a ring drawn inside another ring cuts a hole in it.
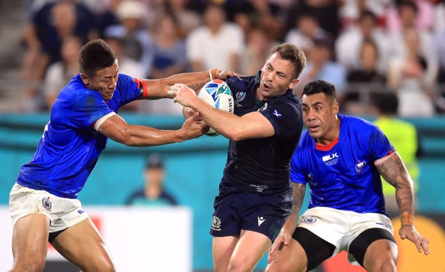
[[[396,93],[398,115],[445,113],[444,0],[28,0],[21,111],[48,111],[79,72],[81,45],[102,38],[120,72],[159,79],[218,67],[256,74],[280,42],[298,45],[305,83],[334,83],[343,113],[369,114],[375,92]],[[139,113],[180,114],[138,101]]]

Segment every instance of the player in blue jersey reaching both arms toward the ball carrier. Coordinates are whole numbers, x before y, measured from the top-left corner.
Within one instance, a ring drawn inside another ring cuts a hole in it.
[[[77,199],[107,139],[147,147],[196,138],[207,128],[195,122],[197,115],[180,129],[159,130],[129,125],[117,113],[136,99],[172,98],[167,92],[177,82],[200,88],[216,71],[133,79],[118,73],[116,56],[102,40],[81,49],[79,70],[60,91],[37,150],[10,192],[11,271],[42,271],[48,241],[82,271],[115,271],[102,237]]]

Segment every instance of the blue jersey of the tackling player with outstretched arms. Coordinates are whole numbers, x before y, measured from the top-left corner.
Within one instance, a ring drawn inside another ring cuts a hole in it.
[[[78,74],[60,90],[49,122],[31,161],[22,166],[17,183],[63,198],[77,198],[106,147],[106,136],[92,125],[102,116],[141,96],[136,79],[119,74],[113,98],[105,102],[88,90]]]

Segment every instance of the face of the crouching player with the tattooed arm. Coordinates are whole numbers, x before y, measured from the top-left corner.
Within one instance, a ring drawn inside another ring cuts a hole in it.
[[[303,121],[318,143],[328,144],[339,135],[339,103],[324,93],[302,96]]]

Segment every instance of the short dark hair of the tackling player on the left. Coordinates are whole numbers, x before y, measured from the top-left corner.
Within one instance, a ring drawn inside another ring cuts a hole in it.
[[[94,77],[98,70],[111,67],[116,54],[102,39],[92,40],[83,45],[79,53],[79,70]]]

